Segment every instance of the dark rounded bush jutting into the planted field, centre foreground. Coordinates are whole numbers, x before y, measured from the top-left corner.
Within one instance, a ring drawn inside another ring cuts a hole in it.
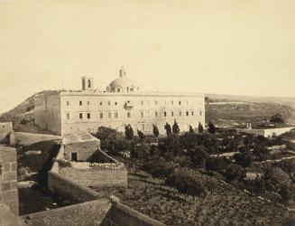
[[[167,178],[165,184],[175,187],[180,193],[200,195],[205,192],[203,184],[188,172],[174,172]]]

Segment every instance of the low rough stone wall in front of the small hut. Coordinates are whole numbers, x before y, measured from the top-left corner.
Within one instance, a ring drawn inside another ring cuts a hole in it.
[[[71,181],[86,186],[97,187],[127,187],[127,170],[125,167],[90,167],[77,169],[73,167],[60,168],[60,174]]]

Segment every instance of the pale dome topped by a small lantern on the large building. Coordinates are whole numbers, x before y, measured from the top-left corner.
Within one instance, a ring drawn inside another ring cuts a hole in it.
[[[111,92],[134,92],[137,91],[138,87],[133,80],[125,76],[125,71],[122,67],[120,70],[120,78],[113,80],[106,89]]]

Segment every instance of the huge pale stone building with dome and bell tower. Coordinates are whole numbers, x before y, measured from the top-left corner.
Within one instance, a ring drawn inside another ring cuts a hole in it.
[[[35,98],[35,123],[57,134],[73,131],[96,132],[98,127],[124,131],[124,125],[152,133],[152,124],[164,134],[166,122],[179,123],[180,131],[189,125],[205,124],[205,98],[202,94],[142,92],[127,78],[124,68],[105,91],[94,89],[94,80],[82,77],[82,90],[60,91]]]

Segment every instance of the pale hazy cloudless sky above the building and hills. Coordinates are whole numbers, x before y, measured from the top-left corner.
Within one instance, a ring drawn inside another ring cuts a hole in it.
[[[0,112],[122,65],[142,89],[295,97],[295,1],[0,2]]]

